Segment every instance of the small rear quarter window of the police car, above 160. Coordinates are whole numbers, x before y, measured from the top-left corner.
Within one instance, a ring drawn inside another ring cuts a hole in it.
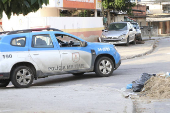
[[[12,46],[19,46],[19,47],[25,47],[25,37],[20,37],[20,38],[13,38],[11,40],[11,45]]]

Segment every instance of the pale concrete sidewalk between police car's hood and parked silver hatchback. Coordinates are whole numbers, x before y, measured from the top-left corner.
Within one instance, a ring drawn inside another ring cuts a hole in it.
[[[116,47],[121,55],[121,59],[126,60],[151,53],[154,50],[157,40],[159,39],[159,37],[152,37],[151,40],[149,40],[148,37],[144,37],[144,44],[130,44],[129,46],[116,45]]]

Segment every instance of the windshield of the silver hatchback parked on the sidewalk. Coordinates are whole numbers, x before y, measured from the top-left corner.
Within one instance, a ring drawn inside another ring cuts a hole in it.
[[[112,23],[108,30],[127,30],[127,23]]]

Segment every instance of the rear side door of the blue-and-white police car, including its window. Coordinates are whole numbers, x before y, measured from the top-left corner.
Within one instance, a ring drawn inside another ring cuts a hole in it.
[[[61,70],[60,52],[49,32],[31,33],[29,54],[44,74],[57,74]]]

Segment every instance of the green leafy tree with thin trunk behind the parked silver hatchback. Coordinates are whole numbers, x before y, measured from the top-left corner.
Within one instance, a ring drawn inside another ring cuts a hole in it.
[[[102,13],[104,10],[107,12],[107,24],[110,23],[110,11],[123,11],[127,14],[132,13],[132,7],[135,6],[135,3],[130,2],[130,0],[103,0],[102,1]]]

